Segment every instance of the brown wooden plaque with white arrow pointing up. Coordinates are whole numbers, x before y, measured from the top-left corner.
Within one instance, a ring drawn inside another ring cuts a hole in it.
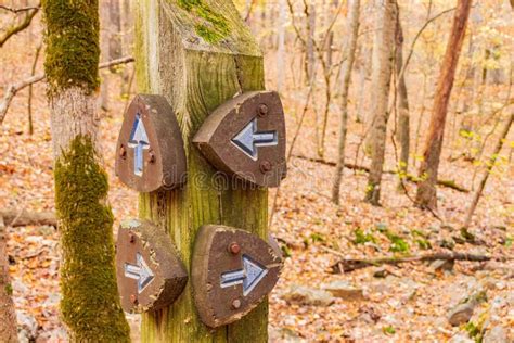
[[[163,96],[138,94],[130,103],[117,142],[116,175],[139,192],[185,181],[182,136]]]

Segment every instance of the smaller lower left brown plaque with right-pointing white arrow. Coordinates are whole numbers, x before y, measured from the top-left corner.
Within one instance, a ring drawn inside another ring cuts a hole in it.
[[[116,274],[121,306],[129,313],[170,305],[188,281],[168,234],[140,219],[125,220],[119,227]]]

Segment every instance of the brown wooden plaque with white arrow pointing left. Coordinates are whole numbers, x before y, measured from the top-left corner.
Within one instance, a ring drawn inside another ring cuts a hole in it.
[[[193,143],[218,169],[262,187],[286,175],[285,122],[277,92],[252,91],[216,109]]]

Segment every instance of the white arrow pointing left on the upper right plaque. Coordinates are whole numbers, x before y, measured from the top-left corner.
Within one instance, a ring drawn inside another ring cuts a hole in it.
[[[257,131],[257,118],[249,122],[234,138],[232,143],[248,157],[257,161],[258,147],[279,144],[277,131]]]

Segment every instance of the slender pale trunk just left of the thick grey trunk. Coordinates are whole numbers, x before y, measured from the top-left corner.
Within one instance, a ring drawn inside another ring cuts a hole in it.
[[[354,60],[357,49],[357,36],[359,33],[359,9],[360,0],[352,0],[350,12],[348,14],[348,43],[347,43],[347,59],[343,69],[343,90],[342,90],[342,109],[339,122],[339,144],[337,164],[334,172],[334,183],[332,188],[332,202],[339,204],[340,179],[343,177],[343,169],[345,166],[345,145],[346,131],[348,123],[348,90],[350,88],[351,72],[354,68]]]

